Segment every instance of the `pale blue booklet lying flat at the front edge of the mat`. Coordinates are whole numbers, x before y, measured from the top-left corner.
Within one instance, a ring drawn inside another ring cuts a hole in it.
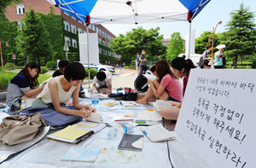
[[[72,147],[62,156],[61,160],[94,162],[100,153],[101,149]]]

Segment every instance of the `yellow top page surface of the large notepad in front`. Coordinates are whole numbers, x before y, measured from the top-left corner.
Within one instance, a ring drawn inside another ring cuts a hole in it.
[[[68,125],[65,129],[57,131],[57,132],[51,134],[51,136],[75,141],[79,137],[84,136],[89,131],[90,130],[76,129],[73,126]]]

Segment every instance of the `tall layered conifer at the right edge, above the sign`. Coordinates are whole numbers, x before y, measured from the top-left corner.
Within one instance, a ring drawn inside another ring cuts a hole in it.
[[[228,31],[224,32],[224,39],[221,42],[227,46],[224,54],[235,58],[236,62],[238,58],[242,60],[245,56],[253,59],[256,46],[253,12],[241,3],[240,9],[232,11],[230,15],[231,20],[226,25]]]

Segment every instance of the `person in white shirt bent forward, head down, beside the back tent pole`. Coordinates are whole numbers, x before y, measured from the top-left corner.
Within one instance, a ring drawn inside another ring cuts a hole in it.
[[[93,78],[92,88],[90,91],[96,90],[99,93],[111,94],[112,93],[112,75],[109,71],[100,70],[97,72],[96,77]]]

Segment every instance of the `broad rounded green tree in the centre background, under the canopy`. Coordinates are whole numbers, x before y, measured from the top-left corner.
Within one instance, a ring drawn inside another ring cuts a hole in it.
[[[142,49],[146,49],[148,61],[155,61],[160,55],[166,54],[166,47],[162,44],[163,35],[160,35],[159,30],[159,27],[148,31],[138,27],[125,35],[119,34],[119,37],[114,38],[109,46],[113,53],[122,55],[121,61],[130,63],[134,55]]]

